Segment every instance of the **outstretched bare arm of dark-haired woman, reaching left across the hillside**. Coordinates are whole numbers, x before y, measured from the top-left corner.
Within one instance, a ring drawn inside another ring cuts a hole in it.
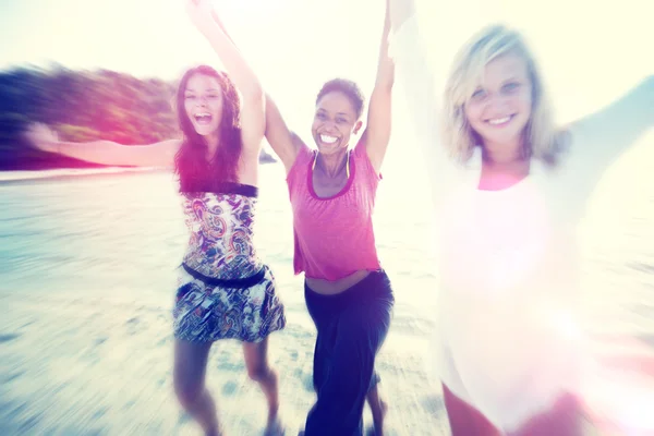
[[[149,145],[121,145],[111,141],[70,143],[59,141],[44,124],[33,124],[26,132],[36,148],[59,155],[108,166],[172,167],[181,140],[161,141]]]

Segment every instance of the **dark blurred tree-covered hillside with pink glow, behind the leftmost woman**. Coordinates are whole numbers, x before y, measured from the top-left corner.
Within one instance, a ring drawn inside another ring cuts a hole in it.
[[[134,145],[180,137],[175,86],[107,70],[0,72],[0,170],[98,167],[33,148],[23,137],[32,122],[48,124],[62,141]],[[265,152],[261,160],[275,161]]]

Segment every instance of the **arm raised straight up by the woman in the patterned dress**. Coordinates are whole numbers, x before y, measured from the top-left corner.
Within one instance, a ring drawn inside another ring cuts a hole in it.
[[[266,128],[264,92],[225,26],[216,14],[210,0],[184,0],[186,12],[197,29],[207,38],[220,58],[230,78],[241,94],[241,135],[243,152],[258,158]]]

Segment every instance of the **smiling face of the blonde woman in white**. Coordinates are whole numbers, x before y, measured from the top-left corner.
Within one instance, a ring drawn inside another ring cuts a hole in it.
[[[532,83],[524,59],[507,53],[488,62],[464,110],[485,148],[519,152],[532,114]]]

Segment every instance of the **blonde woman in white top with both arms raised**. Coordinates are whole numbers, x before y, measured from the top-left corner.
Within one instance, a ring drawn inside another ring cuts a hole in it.
[[[559,130],[523,37],[491,26],[460,50],[440,105],[414,9],[391,0],[391,56],[437,205],[452,434],[581,434],[576,228],[603,171],[654,124],[654,80]]]

